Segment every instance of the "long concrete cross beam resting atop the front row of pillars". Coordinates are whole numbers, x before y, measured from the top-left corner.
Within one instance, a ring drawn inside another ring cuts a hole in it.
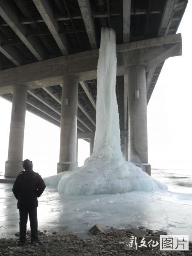
[[[181,35],[168,35],[138,42],[120,44],[117,51],[117,76],[127,74],[127,68],[140,63],[146,72],[172,56],[181,55]],[[79,81],[96,79],[99,52],[93,49],[0,71],[0,95],[10,93],[12,85],[32,88],[61,84],[63,76],[78,76]],[[94,108],[96,102],[89,88],[81,82]],[[6,90],[3,87],[7,87]]]

